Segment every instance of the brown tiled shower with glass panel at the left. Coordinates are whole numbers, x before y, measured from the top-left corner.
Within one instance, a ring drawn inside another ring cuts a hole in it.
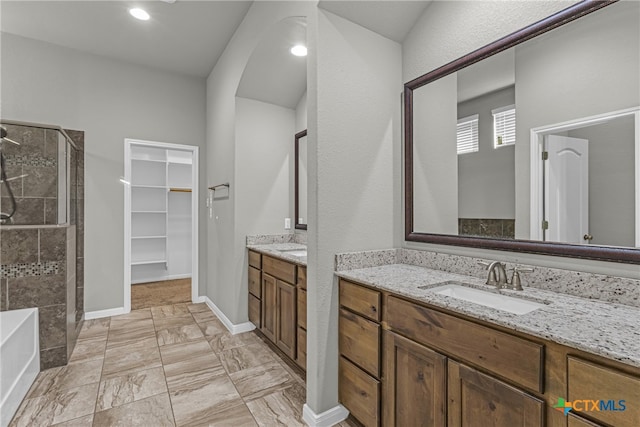
[[[0,311],[38,308],[40,365],[67,363],[83,319],[84,132],[2,121]]]

